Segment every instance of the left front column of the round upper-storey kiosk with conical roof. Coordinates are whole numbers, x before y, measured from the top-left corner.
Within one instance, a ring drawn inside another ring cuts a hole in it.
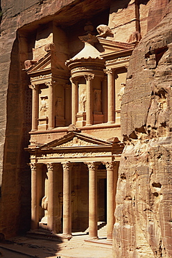
[[[78,112],[78,81],[70,78],[71,81],[71,123],[76,125],[76,113]]]

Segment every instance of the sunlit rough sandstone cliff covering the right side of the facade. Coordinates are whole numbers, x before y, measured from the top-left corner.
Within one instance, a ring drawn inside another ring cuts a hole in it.
[[[172,4],[137,45],[121,107],[114,257],[172,257]]]

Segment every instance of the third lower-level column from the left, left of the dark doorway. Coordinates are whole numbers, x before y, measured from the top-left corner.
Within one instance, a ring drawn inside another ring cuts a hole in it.
[[[71,163],[62,162],[63,168],[63,231],[62,234],[71,238]]]

